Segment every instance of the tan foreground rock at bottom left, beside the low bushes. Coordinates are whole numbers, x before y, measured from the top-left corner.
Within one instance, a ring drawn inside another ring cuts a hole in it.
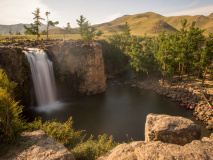
[[[22,143],[32,145],[11,159],[14,160],[75,160],[74,156],[59,142],[45,134],[44,131],[24,132],[21,135]]]

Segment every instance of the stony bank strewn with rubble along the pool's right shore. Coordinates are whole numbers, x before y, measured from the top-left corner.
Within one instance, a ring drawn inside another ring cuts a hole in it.
[[[171,98],[186,109],[193,110],[196,120],[203,121],[206,129],[213,129],[213,110],[209,105],[213,100],[211,88],[202,90],[201,85],[196,82],[181,82],[164,86],[161,81],[129,81],[128,83],[132,87],[151,89],[159,95]]]

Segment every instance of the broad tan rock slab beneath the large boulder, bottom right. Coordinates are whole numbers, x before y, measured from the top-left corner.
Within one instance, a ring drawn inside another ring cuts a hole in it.
[[[202,141],[194,140],[184,146],[160,141],[138,141],[121,144],[98,160],[206,160],[213,159],[212,147],[213,139],[207,137]]]

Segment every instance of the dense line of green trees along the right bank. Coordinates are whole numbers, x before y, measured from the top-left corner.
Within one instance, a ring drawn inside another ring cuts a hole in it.
[[[160,71],[163,83],[166,75],[178,75],[181,80],[184,73],[205,79],[213,60],[213,34],[205,38],[205,30],[196,28],[195,22],[188,24],[186,19],[181,25],[180,33],[163,31],[158,37],[145,35],[142,38],[132,36],[126,23],[123,33],[110,36],[108,41],[129,56],[130,65],[136,72]]]

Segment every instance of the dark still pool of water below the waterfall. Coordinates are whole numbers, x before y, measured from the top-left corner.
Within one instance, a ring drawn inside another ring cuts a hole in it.
[[[118,142],[127,142],[130,138],[135,141],[145,139],[145,122],[149,113],[194,120],[192,112],[176,102],[154,91],[129,86],[113,86],[102,94],[64,99],[63,105],[51,112],[29,108],[24,115],[29,121],[40,116],[44,121],[57,119],[60,122],[72,116],[76,130],[86,130],[87,135],[93,134],[95,137],[107,133]],[[201,123],[198,125],[202,128],[202,136],[210,136],[211,131],[206,130]]]

